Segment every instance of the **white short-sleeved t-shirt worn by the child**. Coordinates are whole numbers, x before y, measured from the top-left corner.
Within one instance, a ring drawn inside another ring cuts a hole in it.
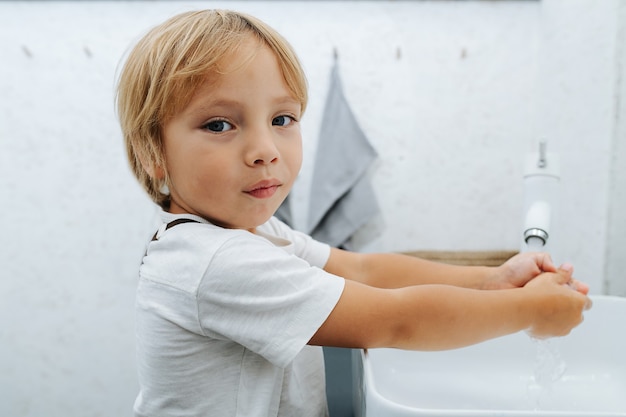
[[[202,224],[160,233],[140,268],[136,416],[327,415],[307,342],[344,287],[329,246],[275,218],[255,235],[163,213],[180,217]]]

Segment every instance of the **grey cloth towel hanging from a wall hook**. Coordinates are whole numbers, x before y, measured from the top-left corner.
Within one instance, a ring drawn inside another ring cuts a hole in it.
[[[313,238],[353,249],[351,237],[380,211],[367,175],[376,157],[344,96],[335,57],[311,184]]]

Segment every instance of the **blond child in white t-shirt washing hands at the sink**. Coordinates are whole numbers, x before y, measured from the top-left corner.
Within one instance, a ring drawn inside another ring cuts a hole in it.
[[[273,218],[306,103],[291,47],[240,13],[183,13],[130,53],[118,112],[164,220],[140,268],[137,416],[324,416],[319,346],[451,349],[581,322],[586,286],[545,254],[498,268],[356,254]]]

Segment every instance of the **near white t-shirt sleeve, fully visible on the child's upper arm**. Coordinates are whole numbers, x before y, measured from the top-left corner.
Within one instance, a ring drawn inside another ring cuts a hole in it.
[[[200,326],[207,336],[232,340],[285,367],[343,288],[343,278],[264,239],[234,237],[215,253],[198,287]]]

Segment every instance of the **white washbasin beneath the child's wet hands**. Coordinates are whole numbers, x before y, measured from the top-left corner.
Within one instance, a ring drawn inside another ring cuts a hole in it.
[[[551,370],[565,367],[542,384],[546,344],[523,332],[443,352],[355,350],[355,416],[626,417],[626,298],[592,299],[579,327],[548,342]]]

